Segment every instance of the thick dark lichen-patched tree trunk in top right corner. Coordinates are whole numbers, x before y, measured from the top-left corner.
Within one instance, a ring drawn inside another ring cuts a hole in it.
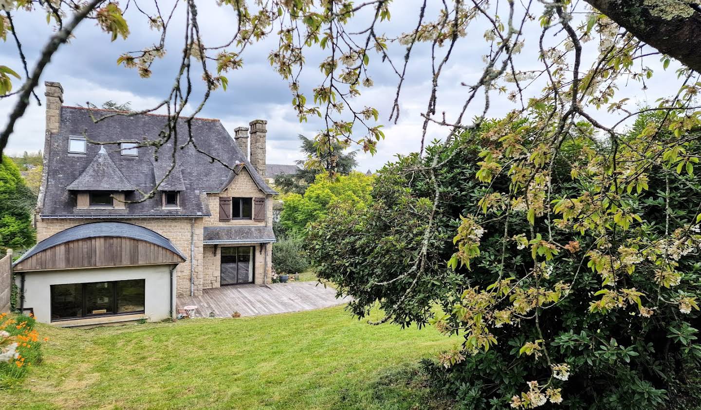
[[[698,0],[585,1],[638,39],[701,72],[701,6]]]

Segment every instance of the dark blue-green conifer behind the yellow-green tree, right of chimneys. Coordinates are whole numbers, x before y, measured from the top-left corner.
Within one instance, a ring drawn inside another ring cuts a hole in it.
[[[355,160],[357,151],[343,153],[343,150],[348,148],[347,144],[334,142],[334,149],[327,151],[317,149],[314,140],[304,135],[299,135],[299,141],[301,142],[301,151],[306,156],[305,160],[296,161],[299,170],[294,174],[275,175],[275,188],[280,189],[283,193],[303,195],[307,187],[314,183],[316,176],[322,173],[322,170],[348,175],[358,165],[358,161]]]

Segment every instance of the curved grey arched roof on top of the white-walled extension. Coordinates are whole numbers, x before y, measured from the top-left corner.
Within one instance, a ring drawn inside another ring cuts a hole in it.
[[[104,236],[118,237],[118,238],[132,238],[136,240],[143,240],[145,242],[153,243],[160,247],[164,247],[167,250],[177,254],[182,259],[187,260],[184,254],[182,254],[177,247],[175,247],[168,238],[165,238],[158,233],[151,231],[151,229],[144,228],[143,226],[138,226],[134,224],[126,224],[125,222],[93,222],[90,224],[82,224],[73,226],[64,231],[60,231],[55,235],[42,240],[28,250],[25,254],[13,262],[13,266],[19,264],[21,261],[32,257],[39,252],[48,250],[56,245],[61,245],[65,242],[72,242],[74,240],[80,240],[85,238],[101,238]]]

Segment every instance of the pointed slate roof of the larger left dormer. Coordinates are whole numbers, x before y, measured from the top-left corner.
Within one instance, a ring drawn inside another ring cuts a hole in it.
[[[102,146],[88,168],[66,189],[69,191],[134,191],[134,186],[109,159],[107,151]]]

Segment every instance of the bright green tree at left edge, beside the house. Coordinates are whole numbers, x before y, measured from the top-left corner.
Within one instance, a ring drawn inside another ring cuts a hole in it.
[[[36,240],[32,210],[36,196],[7,156],[0,163],[0,248],[26,249]]]

